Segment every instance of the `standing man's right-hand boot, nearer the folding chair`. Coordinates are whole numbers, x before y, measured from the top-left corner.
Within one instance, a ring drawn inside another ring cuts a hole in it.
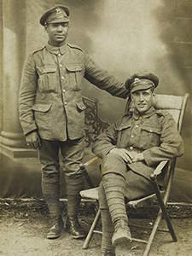
[[[66,230],[71,234],[74,239],[85,237],[84,230],[80,226],[78,218],[67,217]]]

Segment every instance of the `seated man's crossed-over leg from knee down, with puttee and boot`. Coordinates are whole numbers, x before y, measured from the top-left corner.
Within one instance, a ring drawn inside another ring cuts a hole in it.
[[[113,245],[131,240],[125,207],[126,172],[125,162],[119,156],[108,154],[107,158],[103,161],[102,187],[114,227]]]

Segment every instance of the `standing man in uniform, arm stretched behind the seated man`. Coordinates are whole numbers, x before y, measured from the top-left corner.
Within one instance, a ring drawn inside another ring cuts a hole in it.
[[[69,9],[57,5],[40,19],[49,42],[29,55],[20,85],[20,123],[31,148],[38,148],[42,165],[42,190],[52,220],[47,238],[61,236],[59,204],[59,150],[67,183],[67,230],[73,238],[84,237],[79,225],[79,191],[84,176],[79,164],[84,153],[84,103],[81,85],[85,78],[113,96],[127,91],[113,76],[97,67],[84,50],[67,44]]]

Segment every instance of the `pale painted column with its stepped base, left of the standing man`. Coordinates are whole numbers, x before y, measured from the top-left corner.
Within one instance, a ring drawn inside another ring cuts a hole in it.
[[[0,147],[12,157],[34,156],[26,148],[18,113],[20,76],[26,57],[26,0],[3,0],[3,83]]]

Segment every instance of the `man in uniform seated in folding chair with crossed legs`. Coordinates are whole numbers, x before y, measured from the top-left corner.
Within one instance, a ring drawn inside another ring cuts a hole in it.
[[[117,253],[117,248],[131,241],[125,200],[152,194],[150,174],[155,166],[183,154],[183,140],[172,115],[154,108],[158,84],[159,79],[151,73],[128,79],[129,113],[102,133],[93,147],[103,159],[99,191],[102,255],[115,255],[115,247]]]

